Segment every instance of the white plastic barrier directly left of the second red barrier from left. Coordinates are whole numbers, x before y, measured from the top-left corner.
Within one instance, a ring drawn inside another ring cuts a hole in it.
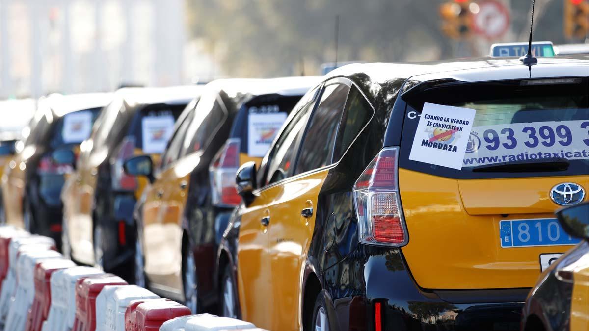
[[[35,295],[34,270],[37,262],[48,259],[62,259],[54,250],[44,250],[44,246],[31,251],[22,251],[16,262],[16,294],[6,316],[5,330],[22,331],[25,329],[29,309]]]

